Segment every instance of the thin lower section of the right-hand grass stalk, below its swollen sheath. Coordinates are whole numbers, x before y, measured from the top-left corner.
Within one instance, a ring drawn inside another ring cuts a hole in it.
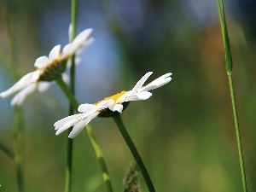
[[[235,97],[232,73],[228,73],[228,76],[229,76],[229,83],[230,83],[230,95],[231,95],[231,101],[232,101],[232,108],[233,108],[233,114],[235,119],[236,140],[237,140],[237,147],[238,147],[239,160],[240,160],[242,187],[243,187],[243,191],[247,192],[247,178],[246,178],[243,154],[242,154],[242,148],[241,148],[241,135],[240,135],[239,122],[238,122],[238,116],[236,111],[236,97]]]

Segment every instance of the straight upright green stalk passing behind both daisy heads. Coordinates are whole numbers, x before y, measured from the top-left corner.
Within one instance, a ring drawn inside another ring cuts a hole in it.
[[[71,41],[75,38],[77,29],[77,0],[71,0]],[[70,91],[75,93],[75,55],[72,57],[70,68]],[[69,103],[69,115],[73,114],[73,105]],[[65,192],[71,191],[72,182],[72,161],[73,161],[73,139],[67,137],[67,166],[66,166],[66,182]]]

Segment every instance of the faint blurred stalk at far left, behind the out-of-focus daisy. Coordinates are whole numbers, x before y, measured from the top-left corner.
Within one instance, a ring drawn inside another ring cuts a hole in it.
[[[15,4],[11,3],[9,13],[15,13]],[[17,49],[16,49],[16,38],[15,38],[15,15],[9,15],[8,33],[10,42],[10,53],[13,79],[16,81],[19,77],[17,73]],[[15,107],[15,125],[13,128],[13,145],[15,153],[15,170],[16,179],[19,192],[24,192],[24,172],[23,172],[23,145],[24,145],[24,129],[23,120],[20,107]]]

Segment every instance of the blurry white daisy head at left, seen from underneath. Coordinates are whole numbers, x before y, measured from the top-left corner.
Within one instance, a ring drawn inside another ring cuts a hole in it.
[[[70,33],[69,27],[69,33]],[[73,42],[67,44],[61,51],[61,45],[56,45],[50,52],[49,56],[40,56],[35,61],[34,66],[36,71],[27,73],[11,88],[0,93],[0,97],[8,97],[15,93],[15,97],[11,101],[12,106],[20,106],[26,99],[26,96],[32,94],[35,90],[42,92],[49,88],[51,81],[56,78],[67,79],[64,75],[67,61],[77,53],[80,53],[82,49],[86,48],[93,42],[93,38],[89,38],[92,29],[86,29],[80,32],[79,35],[74,38]],[[70,34],[69,34],[70,37]],[[63,73],[63,74],[62,74]]]

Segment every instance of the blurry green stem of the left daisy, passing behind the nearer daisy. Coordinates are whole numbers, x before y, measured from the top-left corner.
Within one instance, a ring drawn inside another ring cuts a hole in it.
[[[72,95],[72,93],[67,87],[67,84],[65,84],[61,78],[55,79],[55,81],[59,85],[63,93],[67,96],[69,102],[73,105],[73,108],[76,108],[77,110],[79,108],[79,102],[77,102],[76,98]],[[92,131],[91,126],[89,124],[85,126],[85,130],[87,131],[87,134],[90,138],[90,143],[92,144],[92,147],[96,153],[97,160],[99,161],[100,168],[102,170],[103,181],[107,186],[108,192],[113,192],[102,149],[100,145],[97,143],[95,134]]]

